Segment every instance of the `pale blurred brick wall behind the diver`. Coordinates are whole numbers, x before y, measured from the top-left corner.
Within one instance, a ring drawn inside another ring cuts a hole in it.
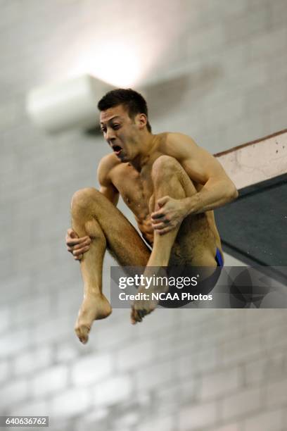
[[[286,128],[286,1],[23,3],[0,1],[1,414],[46,414],[52,431],[286,431],[284,310],[158,310],[136,327],[114,310],[79,343],[82,280],[64,236],[108,148],[46,136],[24,111],[32,87],[65,79],[80,54],[98,60],[116,17],[155,83],[155,131],[217,152]]]

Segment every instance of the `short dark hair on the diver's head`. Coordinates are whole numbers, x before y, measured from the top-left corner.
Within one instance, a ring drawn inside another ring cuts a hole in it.
[[[117,88],[106,93],[98,102],[99,111],[106,111],[108,108],[123,105],[129,113],[129,118],[134,118],[138,113],[144,113],[148,118],[148,106],[141,94],[135,92],[133,89]],[[146,123],[148,132],[151,132],[151,125],[148,121]]]

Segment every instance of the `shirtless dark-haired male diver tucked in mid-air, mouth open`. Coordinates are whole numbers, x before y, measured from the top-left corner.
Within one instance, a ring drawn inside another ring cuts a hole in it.
[[[223,255],[212,210],[238,196],[222,165],[191,137],[151,132],[146,101],[138,92],[115,89],[103,96],[98,109],[111,153],[98,165],[100,189],[80,189],[72,196],[72,228],[66,235],[84,282],[75,325],[82,343],[88,341],[94,320],[112,311],[102,292],[106,249],[120,266],[144,266],[147,271],[216,267]],[[141,235],[117,209],[120,195]],[[156,305],[134,301],[132,323],[141,322]]]

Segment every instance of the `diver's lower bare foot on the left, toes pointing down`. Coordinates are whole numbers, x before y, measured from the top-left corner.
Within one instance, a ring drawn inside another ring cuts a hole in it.
[[[82,306],[79,308],[75,332],[79,341],[86,344],[89,339],[89,332],[94,320],[104,319],[110,316],[112,307],[106,296],[89,295],[84,298]]]

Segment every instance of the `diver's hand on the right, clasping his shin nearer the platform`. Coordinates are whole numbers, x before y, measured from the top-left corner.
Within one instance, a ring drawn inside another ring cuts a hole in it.
[[[188,215],[185,199],[163,196],[156,202],[158,210],[151,213],[153,230],[163,235],[179,226]]]

